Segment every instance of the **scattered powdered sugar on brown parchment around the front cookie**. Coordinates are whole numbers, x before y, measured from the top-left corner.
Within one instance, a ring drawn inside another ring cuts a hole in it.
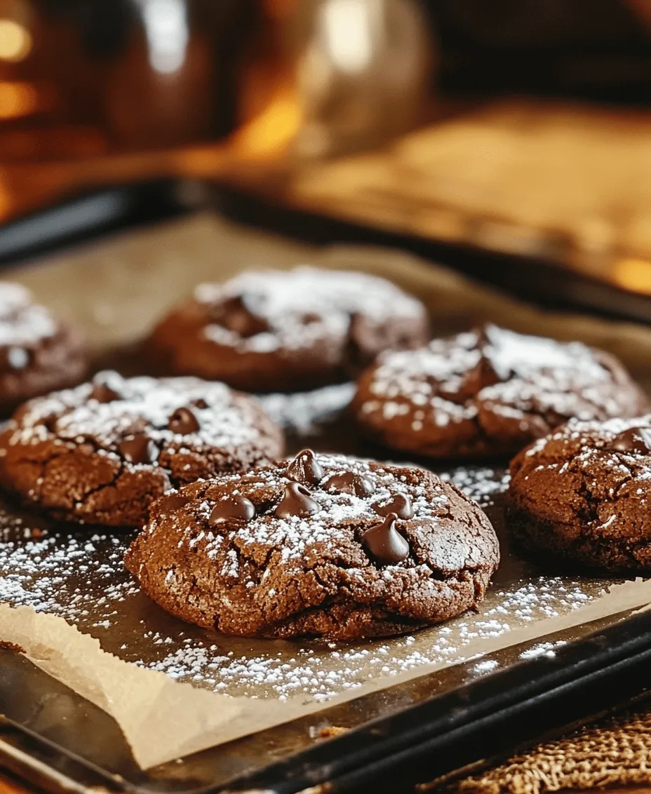
[[[494,500],[504,479],[501,472],[489,472],[457,468],[445,479],[468,495]],[[125,661],[228,695],[323,700],[376,676],[433,662],[454,664],[464,661],[464,646],[476,638],[567,614],[611,584],[545,576],[509,559],[477,614],[413,636],[352,643],[235,638],[180,622],[139,592],[121,562],[133,535],[83,528],[50,532],[43,521],[0,511],[0,603],[60,615]]]

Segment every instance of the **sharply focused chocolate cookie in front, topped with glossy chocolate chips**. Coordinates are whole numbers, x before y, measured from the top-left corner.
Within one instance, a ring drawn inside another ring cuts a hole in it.
[[[125,558],[156,603],[198,626],[341,639],[453,618],[498,563],[491,523],[452,484],[309,449],[164,496]]]

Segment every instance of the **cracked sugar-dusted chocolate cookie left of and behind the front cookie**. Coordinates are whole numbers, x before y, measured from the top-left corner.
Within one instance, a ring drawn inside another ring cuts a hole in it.
[[[225,384],[102,372],[17,410],[0,435],[0,484],[55,518],[141,526],[168,489],[282,452],[267,414]]]

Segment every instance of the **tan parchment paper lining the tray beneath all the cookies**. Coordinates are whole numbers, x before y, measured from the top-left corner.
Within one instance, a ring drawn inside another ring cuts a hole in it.
[[[193,267],[184,268],[193,251]],[[144,268],[133,269],[134,252]],[[118,349],[116,363],[133,366],[130,349],[138,337],[163,304],[186,294],[199,278],[221,278],[242,264],[286,265],[320,256],[198,218],[19,275],[48,303],[75,314],[87,327],[98,360],[114,356]],[[330,253],[326,260],[373,269],[368,255],[360,252],[350,252],[348,260],[345,252]],[[472,306],[477,310],[491,303],[490,294],[478,295],[476,287],[445,271],[436,280],[436,272],[410,258],[387,254],[378,261],[386,268],[391,262],[399,280],[421,294],[435,295],[437,285],[448,299],[456,291],[457,310],[465,306],[470,312]],[[89,264],[94,270],[88,269]],[[508,309],[515,320],[510,325],[517,326],[518,318],[534,323],[536,313],[525,317],[522,306],[507,302],[506,308],[498,307],[503,313]],[[453,314],[448,312],[446,318],[450,322]],[[539,319],[549,323],[548,316]],[[609,341],[604,346],[611,349],[626,347],[626,339],[634,337],[636,329],[572,317],[558,325],[561,335],[573,329],[577,337],[591,337],[588,341],[595,337]],[[651,341],[645,333],[635,338],[636,346],[626,349],[641,364]],[[351,387],[344,385],[311,395],[272,395],[264,403],[288,426],[294,449],[309,444],[315,449],[376,455],[377,450],[357,445],[345,420],[337,418],[350,395]],[[0,607],[0,639],[23,646],[35,664],[113,715],[137,761],[150,767],[319,711],[323,714],[314,717],[313,725],[318,719],[336,719],[337,724],[351,727],[396,703],[427,696],[433,688],[453,686],[461,666],[464,676],[472,677],[517,661],[522,654],[553,653],[557,642],[587,633],[587,621],[615,619],[651,601],[647,583],[564,576],[510,553],[501,526],[503,466],[445,467],[442,474],[483,505],[503,548],[503,565],[480,610],[444,626],[414,636],[349,644],[226,638],[171,618],[137,590],[121,565],[133,533],[49,525],[5,504],[0,506],[0,603],[5,605]],[[503,653],[516,643],[517,652]],[[476,658],[482,654],[486,655]],[[422,688],[401,689],[404,682],[424,673],[436,673],[435,680],[430,678]],[[395,684],[399,686],[387,690],[394,692],[392,696],[379,692]],[[341,705],[377,692],[372,706]],[[333,705],[337,705],[334,712]],[[296,750],[308,739],[302,730],[289,743],[276,736],[279,745],[275,745],[268,735],[266,754],[260,748],[252,752],[255,745],[249,742],[248,763],[255,763],[253,756],[260,764],[274,752]]]

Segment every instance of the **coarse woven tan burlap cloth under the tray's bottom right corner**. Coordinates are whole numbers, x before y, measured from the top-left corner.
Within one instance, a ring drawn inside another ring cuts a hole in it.
[[[645,784],[651,784],[651,713],[639,711],[540,744],[529,753],[460,781],[453,791],[540,794]]]

